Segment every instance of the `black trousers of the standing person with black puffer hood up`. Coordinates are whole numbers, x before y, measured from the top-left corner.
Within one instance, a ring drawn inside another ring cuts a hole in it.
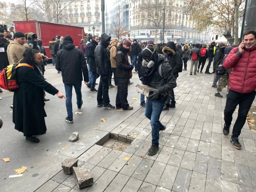
[[[104,104],[104,106],[110,103],[110,98],[108,95],[109,90],[109,75],[101,76],[99,87],[98,87],[98,94],[97,94],[97,101],[98,104]]]

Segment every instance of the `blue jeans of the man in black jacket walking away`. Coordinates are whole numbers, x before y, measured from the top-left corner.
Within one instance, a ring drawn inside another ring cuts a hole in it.
[[[65,92],[66,92],[66,109],[67,109],[67,116],[73,117],[73,111],[72,111],[72,88],[75,88],[76,91],[76,104],[77,107],[81,107],[82,104],[82,82],[75,83],[75,84],[66,84],[64,83]]]

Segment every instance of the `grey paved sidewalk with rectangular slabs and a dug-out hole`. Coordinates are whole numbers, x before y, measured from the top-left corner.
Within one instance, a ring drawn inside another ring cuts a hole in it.
[[[105,135],[78,157],[79,166],[94,175],[93,186],[80,190],[73,175],[59,171],[37,192],[256,192],[256,131],[245,124],[239,137],[242,149],[232,147],[230,136],[222,134],[226,88],[224,97],[217,98],[212,81],[213,75],[180,73],[176,108],[160,118],[166,129],[156,155],[146,155],[151,125],[137,101],[138,110],[121,124],[97,128],[110,137],[133,140],[124,152],[101,146]],[[236,118],[234,113],[233,122]]]

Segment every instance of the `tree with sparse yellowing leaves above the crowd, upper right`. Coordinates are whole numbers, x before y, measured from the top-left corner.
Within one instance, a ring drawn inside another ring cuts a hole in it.
[[[198,30],[211,27],[217,34],[232,31],[235,43],[238,42],[238,21],[244,13],[245,0],[189,0],[186,14]],[[237,24],[235,24],[237,22]],[[237,26],[237,27],[235,27]]]

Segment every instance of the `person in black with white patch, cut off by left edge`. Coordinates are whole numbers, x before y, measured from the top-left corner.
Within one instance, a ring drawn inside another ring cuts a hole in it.
[[[9,65],[9,60],[7,56],[7,47],[9,46],[8,41],[4,38],[4,34],[0,33],[0,73],[1,71]],[[2,93],[0,88],[0,93]]]

